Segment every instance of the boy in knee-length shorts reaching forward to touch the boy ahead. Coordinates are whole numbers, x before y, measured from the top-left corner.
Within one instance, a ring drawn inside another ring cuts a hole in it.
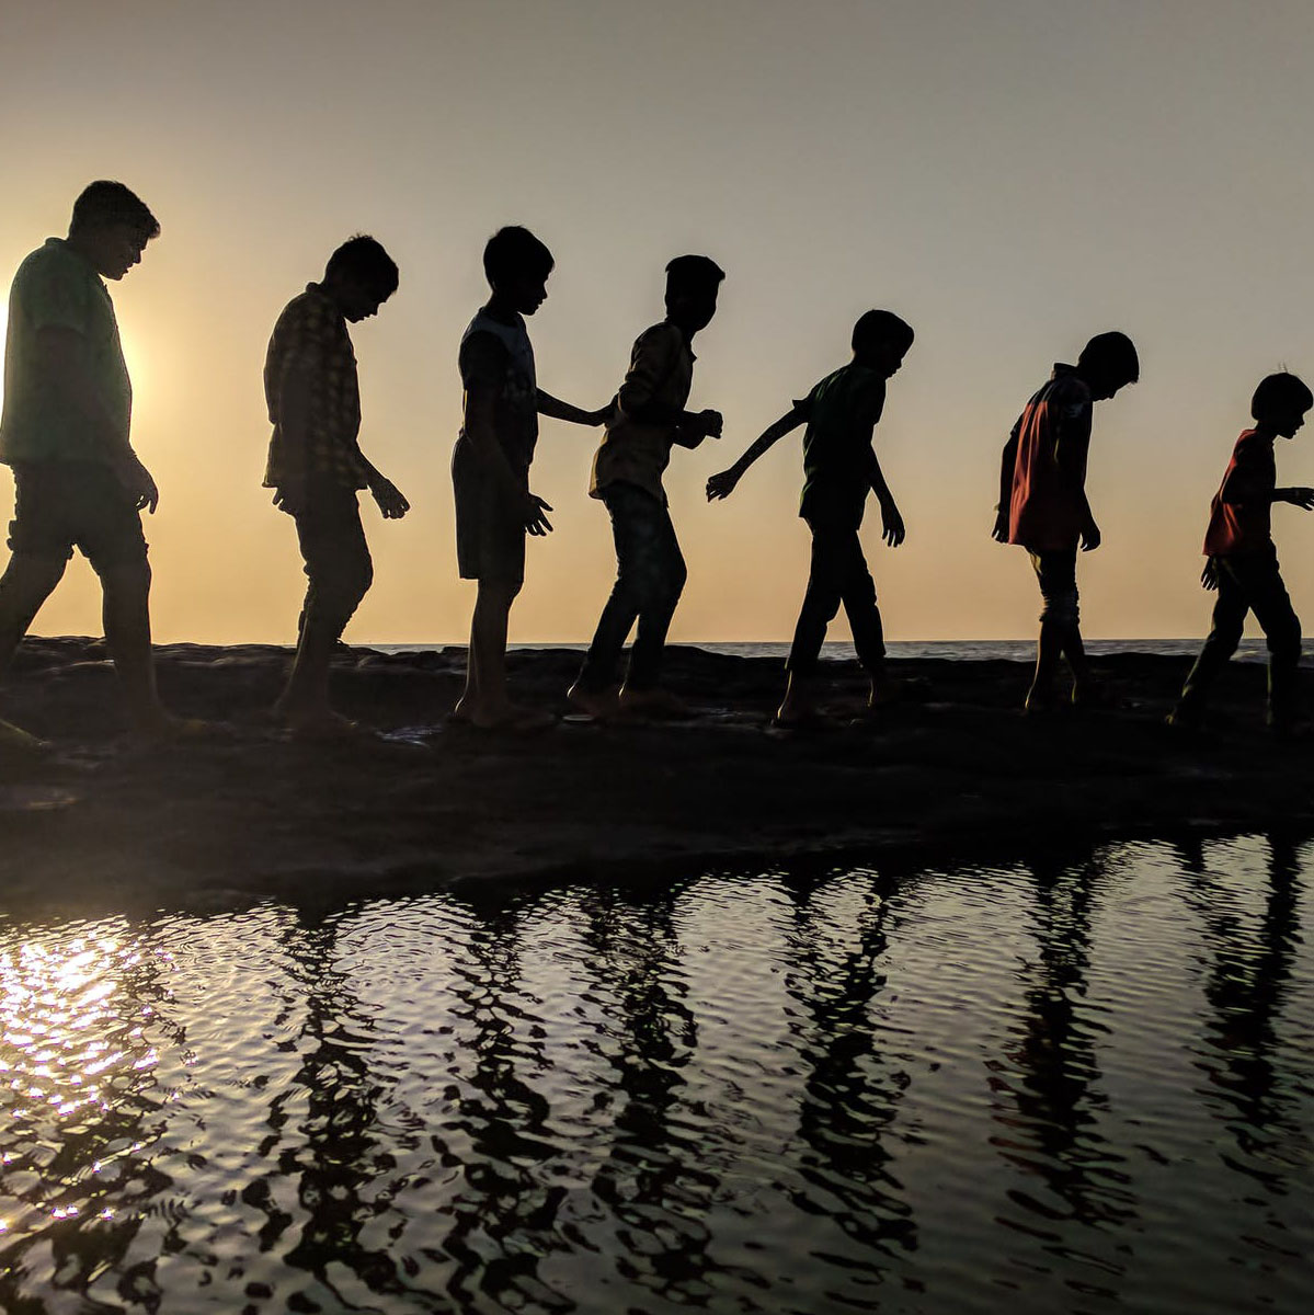
[[[601,425],[606,408],[581,410],[538,387],[525,316],[547,299],[552,254],[527,229],[505,227],[484,247],[492,296],[460,339],[464,423],[452,452],[456,562],[477,580],[470,626],[466,690],[456,721],[530,731],[550,726],[543,709],[517,707],[506,694],[506,626],[525,583],[525,535],[550,534],[552,509],[529,488],[538,417]]]

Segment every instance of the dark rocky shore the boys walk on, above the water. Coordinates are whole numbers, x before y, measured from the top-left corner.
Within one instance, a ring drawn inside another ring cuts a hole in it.
[[[600,877],[880,856],[1015,857],[1048,840],[1301,825],[1314,746],[1263,726],[1264,671],[1234,664],[1211,734],[1163,717],[1177,658],[1100,663],[1117,706],[1023,718],[1027,669],[906,660],[915,697],[873,725],[862,673],[827,668],[834,730],[767,730],[780,664],[677,647],[669,682],[705,714],[677,725],[562,723],[537,736],[445,725],[464,651],[343,648],[334,697],[377,738],[289,739],[267,719],[289,654],[159,648],[168,705],[229,723],[143,748],[113,668],[87,639],[32,639],[0,715],[47,738],[0,757],[0,881],[11,907],[224,907],[260,897],[397,893],[491,877]],[[567,707],[579,655],[510,656],[514,696]],[[1307,679],[1307,677],[1306,677]]]

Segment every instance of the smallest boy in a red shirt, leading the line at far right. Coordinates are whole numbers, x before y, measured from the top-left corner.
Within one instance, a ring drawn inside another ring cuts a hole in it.
[[[1278,734],[1297,723],[1301,622],[1277,567],[1272,509],[1275,502],[1290,502],[1309,512],[1314,509],[1314,489],[1277,488],[1273,441],[1294,438],[1311,405],[1314,394],[1294,375],[1269,375],[1255,389],[1250,408],[1255,427],[1236,439],[1209,508],[1200,580],[1206,589],[1218,590],[1218,600],[1209,638],[1168,717],[1175,729],[1200,725],[1209,692],[1240,643],[1248,611],[1255,613],[1268,640],[1268,723]]]

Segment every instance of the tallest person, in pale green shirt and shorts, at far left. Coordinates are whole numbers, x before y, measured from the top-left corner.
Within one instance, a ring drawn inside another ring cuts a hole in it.
[[[13,467],[13,556],[0,579],[0,673],[75,547],[104,592],[105,640],[139,734],[188,723],[155,692],[150,565],[141,512],[159,490],[129,443],[133,389],[103,279],[122,279],[159,224],[122,183],[74,203],[67,238],[49,238],[14,275],[4,360],[0,460]],[[0,739],[22,743],[0,722]]]

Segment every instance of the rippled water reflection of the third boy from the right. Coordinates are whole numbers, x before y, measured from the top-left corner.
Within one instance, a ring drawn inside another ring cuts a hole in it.
[[[817,906],[825,889],[800,877],[785,885],[793,905],[787,989],[801,1007],[791,1032],[808,1065],[797,1128],[808,1149],[798,1169],[812,1189],[791,1197],[801,1210],[833,1218],[863,1248],[890,1257],[917,1247],[912,1207],[881,1141],[910,1077],[877,1048],[872,1018],[885,988],[893,885],[865,874],[858,943],[838,952]],[[875,1260],[847,1264],[885,1270]]]

